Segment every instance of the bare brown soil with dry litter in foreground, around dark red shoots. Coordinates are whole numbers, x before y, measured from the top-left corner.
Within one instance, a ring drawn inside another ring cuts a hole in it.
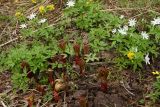
[[[115,70],[110,72],[115,72]],[[86,77],[72,81],[77,89],[61,92],[61,100],[55,103],[53,100],[44,102],[41,93],[35,89],[30,89],[26,93],[14,92],[10,82],[11,74],[6,71],[0,74],[0,100],[9,107],[24,107],[27,105],[27,96],[34,93],[36,96],[33,101],[34,105],[45,107],[52,107],[52,105],[62,107],[64,102],[67,107],[81,107],[78,100],[80,96],[85,96],[88,107],[159,107],[160,103],[152,105],[147,97],[152,88],[150,84],[153,82],[153,77],[149,74],[139,79],[137,73],[119,72],[117,76],[122,76],[123,79],[108,81],[108,90],[103,92],[99,88],[96,74],[88,73]],[[143,102],[140,103],[140,101]]]

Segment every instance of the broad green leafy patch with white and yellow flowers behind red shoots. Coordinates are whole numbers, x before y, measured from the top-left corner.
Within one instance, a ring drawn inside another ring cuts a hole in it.
[[[116,56],[113,61],[120,69],[130,68],[136,71],[143,68],[147,55],[150,58],[148,61],[151,62],[151,59],[159,54],[159,26],[143,23],[146,24],[143,33],[149,36],[144,38],[142,31],[138,29],[138,24],[141,25],[141,22],[130,26],[128,24],[130,20],[121,19],[105,11],[98,1],[77,0],[74,6],[66,7],[62,11],[62,17],[53,25],[47,22],[39,23],[39,17],[28,20],[23,16],[23,20],[18,21],[27,25],[20,30],[20,35],[28,42],[11,49],[2,57],[3,61],[0,63],[12,71],[15,87],[23,90],[29,87],[28,72],[21,67],[23,61],[29,64],[30,71],[39,76],[40,83],[45,84],[48,77],[38,73],[46,73],[50,66],[48,59],[63,54],[68,58],[67,64],[63,64],[63,61],[53,61],[51,68],[57,70],[66,67],[67,73],[73,75],[74,61],[71,59],[75,57],[75,49],[73,49],[75,43],[80,48],[79,56],[83,57],[81,65],[84,64],[83,60],[86,63],[98,60],[97,55],[101,51],[111,51]],[[58,47],[59,40],[62,39],[66,41],[65,50]],[[89,46],[87,55],[82,54],[84,43]],[[50,99],[49,94],[46,98]]]

